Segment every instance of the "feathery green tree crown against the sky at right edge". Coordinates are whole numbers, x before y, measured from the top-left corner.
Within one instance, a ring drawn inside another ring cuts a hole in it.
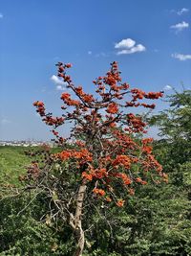
[[[174,172],[191,161],[191,90],[175,92],[167,102],[170,108],[153,116],[150,124],[158,126],[162,136],[158,145],[160,150],[163,148],[164,168]],[[177,181],[181,182],[182,177],[178,176]]]

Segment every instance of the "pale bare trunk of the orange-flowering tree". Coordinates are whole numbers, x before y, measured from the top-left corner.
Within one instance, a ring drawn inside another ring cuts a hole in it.
[[[71,220],[70,220],[70,223],[74,229],[74,233],[77,239],[77,245],[76,245],[76,250],[74,252],[74,256],[81,256],[84,249],[85,237],[84,237],[84,231],[82,228],[81,217],[82,217],[82,208],[83,208],[85,192],[86,192],[86,180],[82,180],[82,183],[77,193],[75,214],[74,216],[71,216]]]

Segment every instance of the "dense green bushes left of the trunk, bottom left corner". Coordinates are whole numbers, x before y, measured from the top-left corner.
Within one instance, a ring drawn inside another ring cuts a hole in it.
[[[70,255],[74,247],[70,229],[42,218],[48,207],[43,197],[26,208],[31,198],[0,201],[0,255]]]

